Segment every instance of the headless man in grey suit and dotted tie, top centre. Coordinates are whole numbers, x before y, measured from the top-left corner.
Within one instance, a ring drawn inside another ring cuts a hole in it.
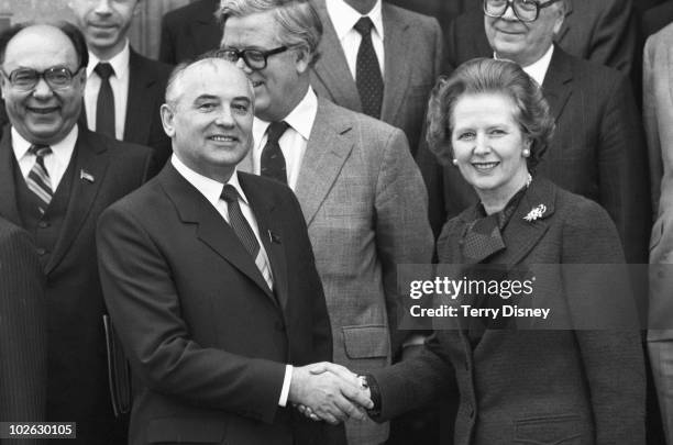
[[[320,58],[311,67],[316,93],[402,130],[415,155],[443,62],[439,23],[380,0],[313,3],[323,26]],[[364,37],[363,21],[372,26]],[[374,57],[367,58],[372,49]],[[375,88],[367,88],[372,80]]]

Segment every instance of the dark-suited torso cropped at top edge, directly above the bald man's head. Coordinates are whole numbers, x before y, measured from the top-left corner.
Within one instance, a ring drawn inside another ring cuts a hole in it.
[[[159,60],[175,65],[220,46],[222,30],[214,13],[219,0],[197,0],[162,19]]]

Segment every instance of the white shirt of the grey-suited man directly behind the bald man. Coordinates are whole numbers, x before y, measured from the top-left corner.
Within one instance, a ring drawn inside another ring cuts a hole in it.
[[[284,119],[289,127],[283,133],[278,140],[280,151],[285,157],[285,168],[287,171],[287,185],[290,189],[297,188],[299,180],[299,169],[301,160],[306,154],[308,138],[313,129],[316,114],[318,113],[318,97],[311,87],[304,96],[304,99],[295,107],[293,111]],[[261,158],[262,151],[266,145],[266,130],[271,122],[255,118],[253,121],[253,137],[254,146],[252,153],[253,173],[260,175],[262,170]]]

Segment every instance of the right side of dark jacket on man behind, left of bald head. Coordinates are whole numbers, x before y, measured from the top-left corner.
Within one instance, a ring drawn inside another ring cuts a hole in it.
[[[153,109],[154,103],[147,100],[150,94],[146,91],[155,84],[156,79],[152,78],[148,70],[143,67],[141,56],[131,48],[124,141],[148,141],[150,125],[147,120],[156,110]]]

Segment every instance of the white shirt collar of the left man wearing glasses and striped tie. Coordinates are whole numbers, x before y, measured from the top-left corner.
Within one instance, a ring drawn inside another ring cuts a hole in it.
[[[49,147],[52,147],[52,153],[44,157],[44,167],[47,170],[47,175],[49,175],[52,192],[56,192],[60,179],[63,179],[63,175],[68,168],[68,164],[70,164],[78,134],[79,130],[77,130],[77,125],[74,125],[63,140],[56,144],[49,145]],[[14,151],[14,156],[16,157],[19,168],[21,168],[21,174],[24,179],[27,178],[29,173],[31,173],[31,169],[35,165],[36,156],[27,153],[31,145],[33,144],[24,140],[12,126],[12,149]]]

